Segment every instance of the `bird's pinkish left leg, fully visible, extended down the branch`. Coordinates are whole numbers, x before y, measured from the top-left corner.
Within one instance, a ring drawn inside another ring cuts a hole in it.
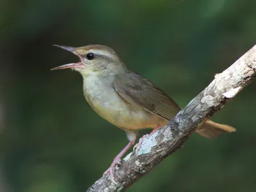
[[[115,177],[114,177],[114,174],[113,174],[113,170],[116,166],[116,164],[120,163],[121,161],[121,158],[122,156],[124,156],[125,152],[127,152],[127,150],[134,144],[135,140],[136,140],[136,133],[135,132],[132,132],[132,131],[126,131],[126,134],[127,134],[127,138],[129,139],[129,143],[121,150],[121,152],[115,157],[113,163],[111,163],[111,166],[108,168],[108,170],[106,170],[105,173],[108,173],[110,174],[110,177],[111,177],[111,180],[112,182],[115,182]],[[104,175],[103,174],[103,175]]]

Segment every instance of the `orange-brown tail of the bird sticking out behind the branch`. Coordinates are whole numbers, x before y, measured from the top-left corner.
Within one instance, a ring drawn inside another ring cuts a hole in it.
[[[212,122],[211,120],[207,120],[202,124],[198,129],[196,129],[196,133],[204,136],[208,139],[217,138],[222,132],[234,132],[236,129],[229,125],[217,124]]]

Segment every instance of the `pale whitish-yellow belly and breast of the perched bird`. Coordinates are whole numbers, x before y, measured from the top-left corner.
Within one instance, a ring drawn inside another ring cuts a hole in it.
[[[100,88],[101,84],[88,89],[84,88],[84,96],[88,104],[102,118],[122,129],[154,128],[165,125],[167,121],[138,106],[125,102],[112,86]]]

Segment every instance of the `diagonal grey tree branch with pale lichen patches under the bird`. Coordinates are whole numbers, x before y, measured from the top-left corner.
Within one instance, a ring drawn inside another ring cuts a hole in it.
[[[140,150],[128,154],[114,170],[115,181],[109,173],[103,175],[87,191],[124,191],[150,172],[163,159],[188,140],[198,124],[227,104],[256,77],[256,45],[221,74],[216,74],[207,88],[182,109],[168,125],[143,139]]]

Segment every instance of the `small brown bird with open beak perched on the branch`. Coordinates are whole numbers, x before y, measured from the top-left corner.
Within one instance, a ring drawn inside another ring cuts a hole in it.
[[[114,180],[113,168],[121,161],[124,153],[134,144],[136,131],[153,128],[150,134],[168,124],[180,111],[179,106],[161,89],[129,70],[111,48],[104,45],[84,47],[64,47],[76,54],[80,61],[52,68],[58,70],[72,68],[83,76],[83,93],[88,104],[102,118],[123,129],[129,143],[115,157],[109,167]],[[234,132],[228,125],[207,120],[196,129],[205,138],[216,138],[221,132]],[[137,145],[140,148],[141,139]]]

